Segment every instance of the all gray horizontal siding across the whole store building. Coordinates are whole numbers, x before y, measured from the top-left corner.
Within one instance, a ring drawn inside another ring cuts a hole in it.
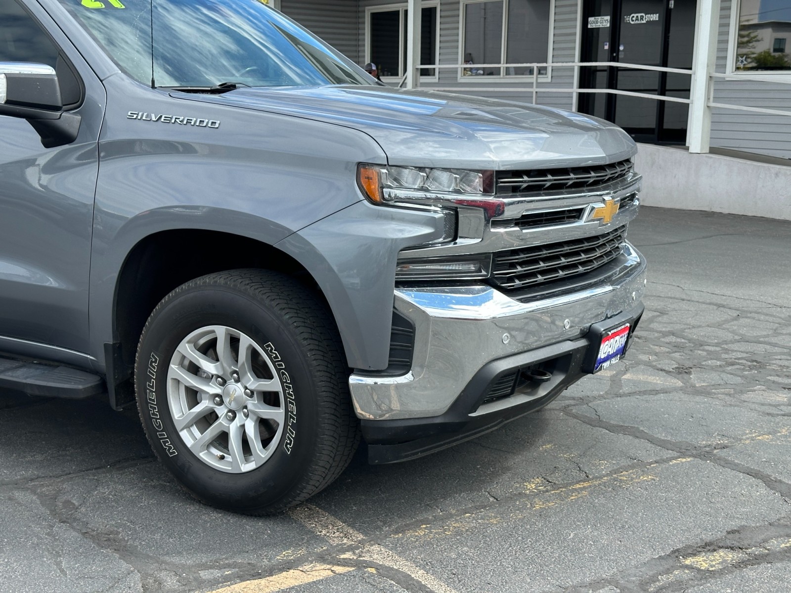
[[[550,2],[550,0],[546,0]],[[552,36],[553,62],[577,60],[577,7],[582,0],[555,0],[554,31]],[[736,0],[733,0],[734,2]],[[370,6],[397,4],[396,0],[282,0],[282,11],[305,25],[358,64],[365,62],[365,9]],[[404,2],[405,3],[405,2]],[[732,0],[722,0],[719,43],[717,46],[717,72],[725,72],[730,35]],[[439,25],[439,53],[441,64],[460,63],[459,55],[460,1],[441,0]],[[532,101],[532,81],[477,77],[480,86],[516,89],[508,92],[475,92],[466,79],[458,80],[457,70],[440,70],[437,83],[422,82],[427,89],[441,86],[458,88],[460,93],[492,96],[525,103]],[[550,81],[539,81],[540,88],[570,89],[573,86],[573,68],[554,68]],[[461,90],[464,88],[464,90]],[[788,109],[791,111],[791,85],[756,81],[717,81],[714,100],[720,103],[740,104],[749,107]],[[570,109],[571,93],[539,93],[539,104]],[[774,157],[791,158],[791,116],[762,115],[747,111],[716,109],[713,113],[711,145],[720,148],[744,150]]]

